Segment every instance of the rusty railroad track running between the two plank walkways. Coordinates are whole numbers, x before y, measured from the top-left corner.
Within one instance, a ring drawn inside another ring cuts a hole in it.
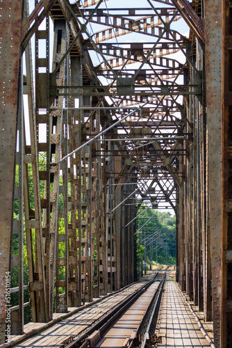
[[[62,348],[133,348],[154,342],[154,319],[158,316],[164,283],[165,273],[156,273],[144,287]]]

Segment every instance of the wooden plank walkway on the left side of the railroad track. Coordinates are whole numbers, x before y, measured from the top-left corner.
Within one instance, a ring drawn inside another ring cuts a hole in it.
[[[93,324],[113,307],[117,306],[118,303],[122,302],[127,296],[138,290],[142,285],[144,285],[144,283],[133,284],[125,290],[122,290],[122,292],[117,292],[117,294],[113,294],[112,296],[109,296],[106,299],[63,319],[60,322],[53,324],[48,329],[17,343],[13,347],[62,347],[65,340],[81,333],[81,331]],[[30,329],[33,328],[33,324],[36,326],[36,323],[28,324]],[[12,337],[12,341],[18,337],[19,336]]]

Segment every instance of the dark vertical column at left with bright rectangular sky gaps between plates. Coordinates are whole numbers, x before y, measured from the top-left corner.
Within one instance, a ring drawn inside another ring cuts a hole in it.
[[[44,198],[41,200],[42,214],[42,232],[43,232],[43,258],[44,266],[46,267],[45,284],[46,293],[46,309],[45,317],[49,321],[52,319],[51,315],[51,297],[50,297],[50,176],[53,169],[50,169],[51,161],[51,139],[50,139],[50,115],[49,115],[49,17],[44,19],[45,29],[38,30],[35,33],[35,112],[37,122],[37,136],[38,136],[38,151],[44,152],[46,156],[43,173],[40,175],[40,180],[44,180]],[[40,45],[45,44],[45,51],[41,51]],[[39,52],[40,51],[40,52]],[[35,264],[35,272],[38,273],[40,264]],[[42,284],[35,284],[37,289],[41,291]],[[39,299],[37,299],[39,301]],[[39,303],[37,303],[39,306]],[[38,321],[44,321],[44,314]]]

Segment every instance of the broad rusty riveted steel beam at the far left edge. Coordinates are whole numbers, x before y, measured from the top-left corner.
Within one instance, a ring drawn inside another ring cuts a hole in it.
[[[10,272],[10,243],[13,234],[16,127],[19,107],[20,34],[22,0],[1,3],[1,104],[0,104],[0,343],[6,338],[6,272]],[[6,30],[7,29],[7,30]],[[4,33],[4,34],[3,34]],[[10,55],[10,64],[9,64]]]

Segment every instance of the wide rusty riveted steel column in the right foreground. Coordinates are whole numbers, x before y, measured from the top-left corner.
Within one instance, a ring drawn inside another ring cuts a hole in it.
[[[214,342],[220,347],[222,239],[222,1],[205,0],[206,102],[208,133],[208,219],[212,265]],[[223,338],[224,339],[224,338]],[[224,346],[225,347],[225,346]]]

